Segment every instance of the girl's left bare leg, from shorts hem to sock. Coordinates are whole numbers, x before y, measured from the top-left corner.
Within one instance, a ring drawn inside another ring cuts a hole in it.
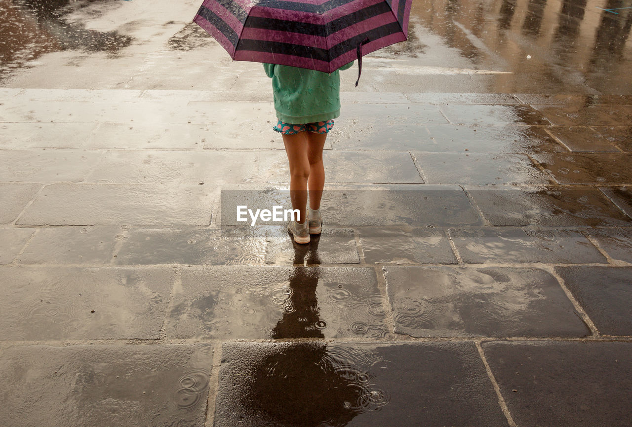
[[[310,162],[307,155],[307,133],[283,135],[285,152],[289,161],[289,197],[292,209],[300,212],[300,223],[305,222],[307,210],[307,180],[310,177]]]

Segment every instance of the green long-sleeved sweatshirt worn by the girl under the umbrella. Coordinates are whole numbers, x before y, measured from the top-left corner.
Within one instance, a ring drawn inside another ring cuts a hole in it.
[[[324,122],[340,115],[340,73],[349,62],[333,73],[286,65],[264,64],[272,78],[274,109],[282,122],[304,124]]]

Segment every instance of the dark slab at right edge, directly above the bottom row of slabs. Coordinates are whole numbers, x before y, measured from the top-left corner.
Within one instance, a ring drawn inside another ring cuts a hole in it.
[[[556,267],[604,335],[632,336],[632,267]]]

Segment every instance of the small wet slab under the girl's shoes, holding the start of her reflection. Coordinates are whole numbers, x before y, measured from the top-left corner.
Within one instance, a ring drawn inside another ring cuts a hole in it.
[[[355,235],[349,228],[327,228],[310,235],[307,245],[294,242],[285,226],[267,232],[267,264],[360,264]]]

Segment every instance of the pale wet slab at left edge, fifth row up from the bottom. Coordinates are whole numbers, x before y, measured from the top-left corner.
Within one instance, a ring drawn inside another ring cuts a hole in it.
[[[100,151],[75,149],[0,150],[0,181],[81,182],[97,165]]]

